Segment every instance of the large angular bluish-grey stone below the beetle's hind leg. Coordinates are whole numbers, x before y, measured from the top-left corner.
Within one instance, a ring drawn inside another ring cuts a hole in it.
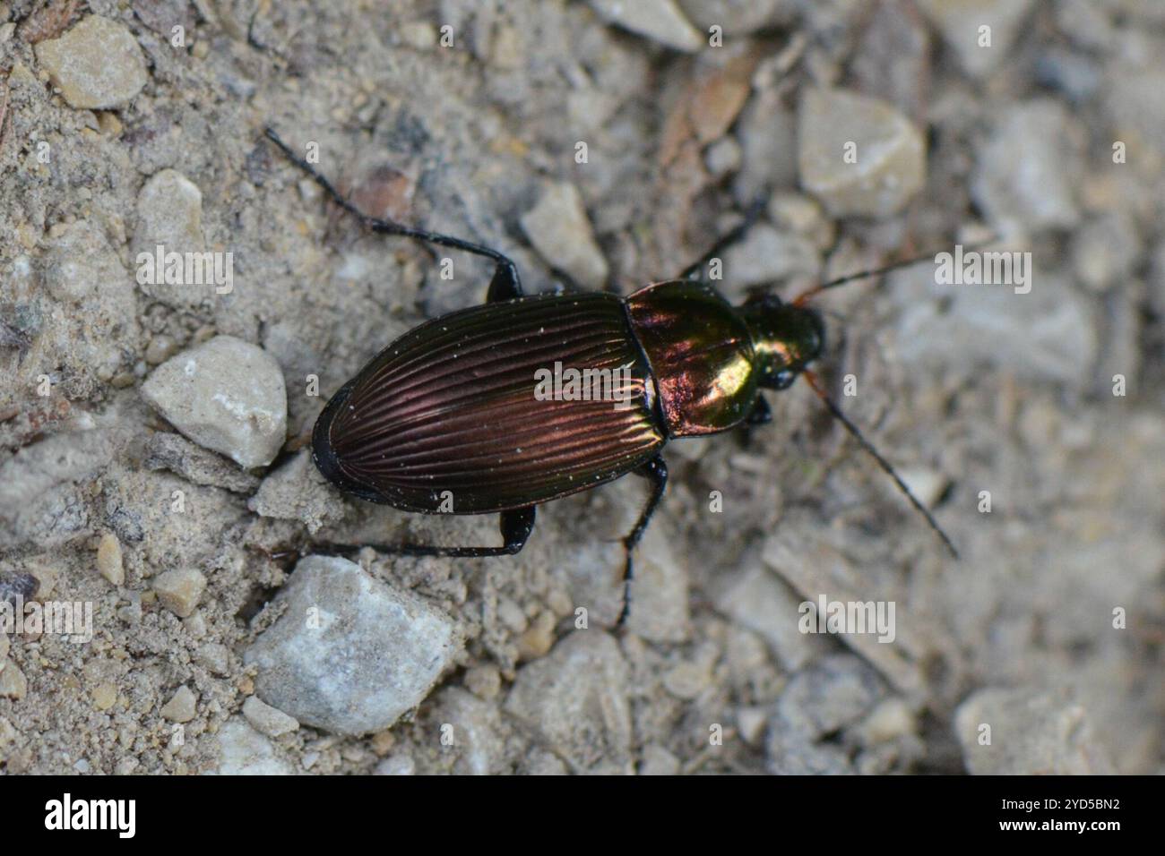
[[[301,560],[274,603],[282,616],[243,655],[257,668],[256,694],[327,731],[390,727],[461,645],[444,613],[346,559]]]

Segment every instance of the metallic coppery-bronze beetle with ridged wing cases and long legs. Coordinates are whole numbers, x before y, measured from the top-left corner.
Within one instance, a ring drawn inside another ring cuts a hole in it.
[[[771,412],[762,391],[786,389],[804,376],[956,554],[930,511],[809,368],[825,346],[825,325],[806,305],[810,298],[919,259],[824,283],[789,303],[765,293],[733,306],[691,276],[740,236],[747,219],[678,278],[628,297],[528,296],[506,255],[365,214],[273,129],[266,134],[370,231],[464,250],[495,264],[483,305],[404,333],[331,397],[312,430],[311,451],[319,472],[346,494],[422,514],[497,514],[503,543],[370,546],[409,556],[513,556],[530,537],[541,503],[637,473],[651,489],[623,538],[622,622],[634,551],[668,484],[664,446],[767,423]],[[538,376],[550,365],[621,374],[607,399],[539,396]]]

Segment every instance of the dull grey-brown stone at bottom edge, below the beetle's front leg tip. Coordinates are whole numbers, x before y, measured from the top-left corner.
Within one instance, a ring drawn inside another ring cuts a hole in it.
[[[628,679],[614,638],[577,630],[518,671],[506,710],[574,772],[630,773]]]

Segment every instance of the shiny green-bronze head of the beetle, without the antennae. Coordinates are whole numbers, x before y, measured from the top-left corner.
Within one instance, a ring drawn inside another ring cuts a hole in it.
[[[825,347],[821,314],[776,295],[750,297],[740,307],[753,337],[761,385],[785,389]]]

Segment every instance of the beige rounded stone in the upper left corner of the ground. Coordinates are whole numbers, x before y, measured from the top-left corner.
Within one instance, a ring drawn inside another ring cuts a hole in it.
[[[75,109],[120,107],[149,79],[133,34],[100,15],[89,15],[59,38],[37,44],[36,61]]]

